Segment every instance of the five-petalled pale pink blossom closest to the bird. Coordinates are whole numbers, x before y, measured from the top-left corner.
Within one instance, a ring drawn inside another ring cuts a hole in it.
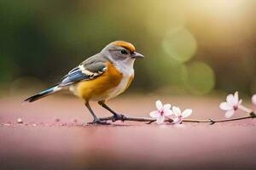
[[[157,111],[151,111],[149,115],[153,118],[156,118],[156,122],[158,124],[162,124],[165,122],[166,116],[171,116],[173,114],[171,110],[172,105],[170,104],[162,105],[162,102],[157,100],[155,102],[155,106]]]

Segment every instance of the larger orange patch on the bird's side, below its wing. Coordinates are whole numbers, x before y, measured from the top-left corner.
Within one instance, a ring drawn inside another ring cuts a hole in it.
[[[77,95],[85,100],[104,99],[108,97],[108,91],[119,85],[123,74],[119,72],[110,62],[107,63],[108,70],[95,79],[78,82],[76,86]]]

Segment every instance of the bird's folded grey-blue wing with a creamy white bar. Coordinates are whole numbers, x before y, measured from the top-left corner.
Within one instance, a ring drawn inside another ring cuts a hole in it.
[[[96,54],[89,59],[84,60],[79,66],[73,68],[62,78],[59,86],[64,87],[74,82],[91,80],[102,75],[107,70],[106,59]]]

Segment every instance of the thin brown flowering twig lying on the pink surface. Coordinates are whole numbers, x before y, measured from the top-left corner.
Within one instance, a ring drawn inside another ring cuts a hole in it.
[[[232,118],[232,119],[221,119],[221,120],[212,120],[212,119],[206,119],[206,120],[199,120],[199,119],[183,119],[183,122],[209,122],[211,125],[216,122],[231,122],[231,121],[238,121],[242,119],[249,119],[249,118],[255,118],[256,114],[254,112],[251,112],[249,116],[242,116],[238,118]],[[135,121],[135,122],[148,122],[148,124],[155,122],[156,120],[154,118],[148,118],[148,117],[134,117],[134,116],[122,116],[121,118],[117,118],[115,116],[108,116],[108,117],[102,117],[100,118],[101,121]],[[173,122],[172,119],[167,119],[165,122]]]

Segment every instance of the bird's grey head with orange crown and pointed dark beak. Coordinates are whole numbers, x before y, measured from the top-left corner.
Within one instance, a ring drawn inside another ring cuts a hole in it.
[[[109,43],[102,49],[103,54],[110,54],[115,61],[118,60],[135,60],[144,58],[143,54],[136,52],[135,47],[130,42],[115,41]]]

